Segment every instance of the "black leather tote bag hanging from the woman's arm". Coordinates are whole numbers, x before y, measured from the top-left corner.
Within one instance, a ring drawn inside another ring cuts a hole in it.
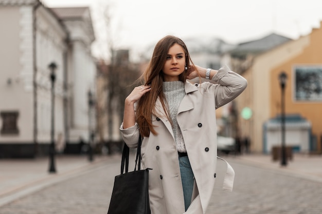
[[[124,143],[121,174],[115,177],[108,214],[151,214],[149,170],[140,169],[141,136],[138,140],[134,171],[129,169],[129,147]],[[125,164],[125,173],[124,171]],[[136,170],[136,165],[138,165]]]

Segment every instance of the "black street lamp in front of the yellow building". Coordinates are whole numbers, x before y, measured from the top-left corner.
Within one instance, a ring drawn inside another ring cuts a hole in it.
[[[281,134],[282,134],[282,149],[281,149],[281,166],[287,165],[286,148],[285,148],[285,86],[287,81],[287,74],[282,71],[279,76],[279,84],[281,87]]]

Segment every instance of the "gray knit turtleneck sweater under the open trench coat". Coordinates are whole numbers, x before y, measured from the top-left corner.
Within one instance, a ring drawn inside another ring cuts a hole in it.
[[[178,107],[186,94],[185,84],[181,81],[163,82],[163,92],[169,107],[176,148],[180,152],[187,152],[181,129],[176,121]]]

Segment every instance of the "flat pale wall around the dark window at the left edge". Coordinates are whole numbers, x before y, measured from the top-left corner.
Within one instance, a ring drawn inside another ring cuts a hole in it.
[[[19,134],[0,143],[33,142],[32,8],[0,7],[0,111],[18,111]],[[8,84],[8,80],[11,84]],[[0,119],[1,126],[2,120]]]

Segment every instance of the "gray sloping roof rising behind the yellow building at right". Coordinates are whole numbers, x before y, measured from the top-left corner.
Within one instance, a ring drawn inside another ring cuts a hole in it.
[[[261,53],[267,50],[273,49],[285,42],[291,41],[291,38],[271,33],[259,40],[240,43],[235,49],[231,50],[231,53],[253,52]]]

